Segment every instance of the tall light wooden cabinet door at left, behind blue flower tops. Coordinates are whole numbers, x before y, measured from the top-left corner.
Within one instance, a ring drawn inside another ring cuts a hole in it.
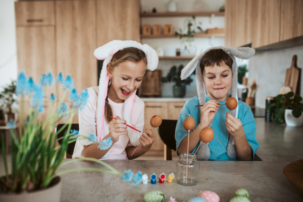
[[[17,27],[16,38],[19,72],[25,71],[36,83],[43,73],[52,71],[53,76],[57,76],[54,27]],[[51,93],[55,95],[56,83],[55,87],[47,89],[46,99]],[[28,97],[25,99],[28,100]]]

